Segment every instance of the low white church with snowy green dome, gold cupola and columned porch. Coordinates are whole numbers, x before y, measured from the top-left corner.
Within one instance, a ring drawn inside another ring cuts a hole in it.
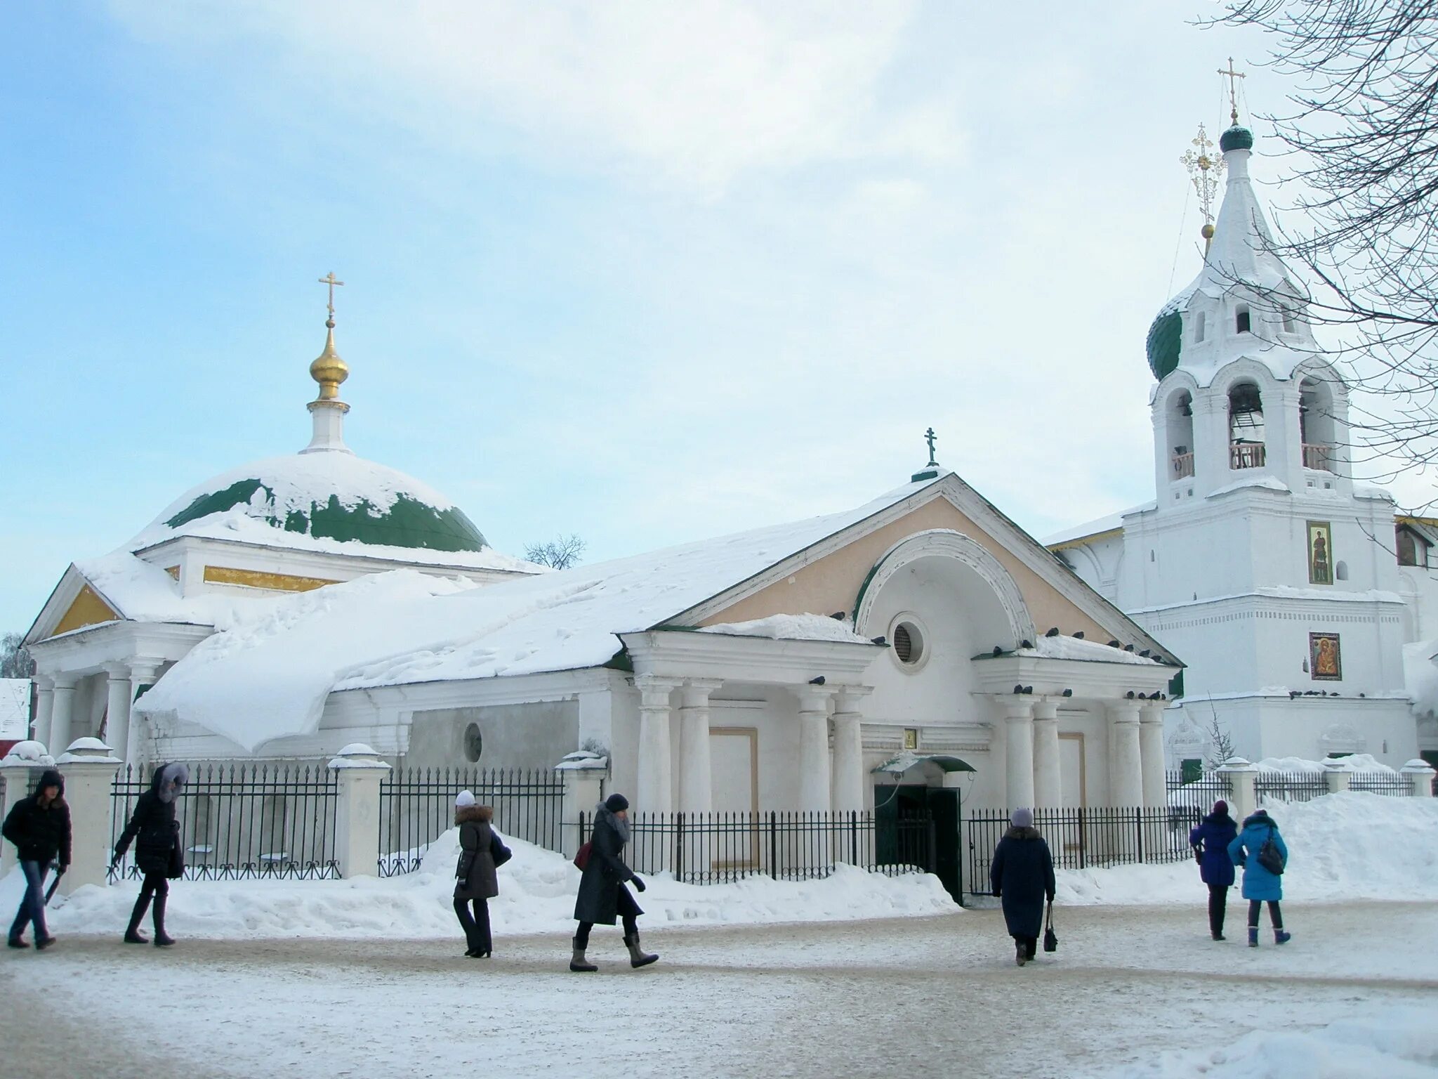
[[[70,565],[27,634],[35,735],[134,762],[608,758],[636,809],[1163,803],[1166,645],[930,455],[861,505],[565,571],[312,439]]]

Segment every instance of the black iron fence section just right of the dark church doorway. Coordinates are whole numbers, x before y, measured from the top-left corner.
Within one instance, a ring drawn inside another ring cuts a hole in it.
[[[1097,869],[1192,857],[1188,833],[1199,816],[1196,809],[1163,806],[1040,809],[1034,810],[1034,827],[1048,840],[1055,869]],[[1008,827],[1008,810],[978,809],[963,819],[971,892],[982,895],[989,891],[994,847]]]

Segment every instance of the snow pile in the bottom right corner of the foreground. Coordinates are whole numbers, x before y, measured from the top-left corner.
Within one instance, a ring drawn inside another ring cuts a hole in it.
[[[1217,1049],[1168,1050],[1112,1079],[1431,1079],[1438,1075],[1431,1007],[1369,1007],[1317,1030],[1250,1030]]]

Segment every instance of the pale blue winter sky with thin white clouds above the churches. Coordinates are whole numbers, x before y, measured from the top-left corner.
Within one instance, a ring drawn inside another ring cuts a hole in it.
[[[502,551],[858,505],[930,424],[1035,535],[1152,498],[1178,158],[1229,55],[1254,109],[1287,91],[1215,10],[6,6],[0,630],[308,442],[331,269],[349,445]]]

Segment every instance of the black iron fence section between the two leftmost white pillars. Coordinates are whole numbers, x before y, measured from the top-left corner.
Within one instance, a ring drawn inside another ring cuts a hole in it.
[[[111,786],[111,846],[135,801],[150,790],[151,770],[125,765]],[[338,878],[335,810],[339,791],[322,765],[214,764],[191,770],[175,798],[186,879]],[[135,847],[109,870],[134,878]]]

